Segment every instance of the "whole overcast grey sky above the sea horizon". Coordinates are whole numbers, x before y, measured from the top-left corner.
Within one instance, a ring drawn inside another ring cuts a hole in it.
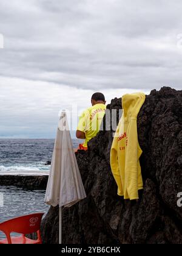
[[[54,138],[59,110],[80,112],[95,91],[109,103],[181,90],[181,10],[180,0],[1,0],[0,137]]]

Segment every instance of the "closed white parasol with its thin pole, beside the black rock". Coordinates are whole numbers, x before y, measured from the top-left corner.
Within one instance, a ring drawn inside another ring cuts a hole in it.
[[[59,244],[62,243],[62,207],[71,207],[86,198],[67,123],[66,112],[61,113],[52,156],[45,203],[59,205]]]

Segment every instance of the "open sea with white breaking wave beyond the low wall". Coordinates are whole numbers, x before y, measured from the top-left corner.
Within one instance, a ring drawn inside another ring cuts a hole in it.
[[[73,140],[77,148],[80,140]],[[54,140],[1,140],[0,139],[0,174],[40,173],[48,174]]]

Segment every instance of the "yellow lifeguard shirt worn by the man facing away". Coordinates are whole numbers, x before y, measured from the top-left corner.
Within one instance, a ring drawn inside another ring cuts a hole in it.
[[[87,148],[87,143],[99,132],[105,113],[106,105],[96,104],[87,108],[79,117],[77,130],[84,132],[86,135],[84,147]]]

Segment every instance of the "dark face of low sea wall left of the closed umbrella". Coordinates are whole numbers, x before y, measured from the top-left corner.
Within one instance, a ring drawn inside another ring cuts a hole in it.
[[[0,186],[16,186],[27,190],[45,190],[48,175],[46,176],[19,176],[0,175]]]

